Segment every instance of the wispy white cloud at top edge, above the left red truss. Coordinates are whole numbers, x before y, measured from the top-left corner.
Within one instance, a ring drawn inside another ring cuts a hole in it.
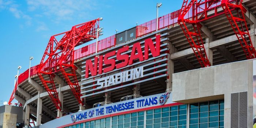
[[[93,0],[27,0],[28,10],[37,11],[48,18],[54,18],[54,22],[60,20],[72,20],[74,18],[88,18],[88,11],[96,7]],[[80,17],[81,16],[81,17]]]

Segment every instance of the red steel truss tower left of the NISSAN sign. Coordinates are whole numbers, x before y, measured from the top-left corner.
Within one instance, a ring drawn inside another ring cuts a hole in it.
[[[61,102],[54,84],[55,73],[61,71],[67,84],[71,88],[79,104],[84,105],[80,99],[80,86],[76,78],[76,69],[74,65],[74,48],[96,38],[96,31],[99,28],[99,20],[91,20],[73,26],[70,31],[53,35],[46,47],[42,57],[37,74],[52,99],[57,109],[61,110]],[[58,41],[58,36],[63,37]],[[71,73],[68,73],[71,72]]]

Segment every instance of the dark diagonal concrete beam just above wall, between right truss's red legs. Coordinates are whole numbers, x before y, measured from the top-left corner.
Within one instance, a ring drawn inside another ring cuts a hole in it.
[[[219,53],[229,62],[237,61],[237,59],[229,52],[229,50],[225,46],[218,46],[216,48]]]

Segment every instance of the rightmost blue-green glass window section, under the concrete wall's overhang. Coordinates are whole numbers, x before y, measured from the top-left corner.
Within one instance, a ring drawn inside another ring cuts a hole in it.
[[[189,128],[224,128],[224,100],[189,105]]]

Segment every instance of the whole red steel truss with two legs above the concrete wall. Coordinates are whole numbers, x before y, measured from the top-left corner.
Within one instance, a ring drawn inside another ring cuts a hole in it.
[[[223,8],[223,12],[217,11],[217,8],[220,6]],[[191,9],[192,17],[188,17],[188,12]],[[214,11],[214,14],[208,16],[207,12],[212,10]],[[234,14],[232,14],[234,11],[236,11],[238,17],[235,17]],[[200,22],[222,14],[227,16],[227,19],[229,20],[231,27],[233,28],[234,33],[236,34],[238,41],[240,42],[242,49],[246,54],[246,58],[255,58],[255,49],[252,45],[251,37],[246,24],[244,16],[245,12],[246,10],[242,6],[242,0],[191,0],[190,3],[188,3],[188,0],[183,1],[180,16],[178,17],[178,23],[181,26],[181,29],[185,34],[189,45],[193,49],[193,52],[201,67],[210,66],[210,62],[207,58],[202,35],[200,33],[200,29],[202,27]],[[188,18],[185,18],[185,16]],[[188,28],[186,23],[187,25],[192,26],[192,30]],[[247,40],[246,37],[248,37],[249,40]]]

